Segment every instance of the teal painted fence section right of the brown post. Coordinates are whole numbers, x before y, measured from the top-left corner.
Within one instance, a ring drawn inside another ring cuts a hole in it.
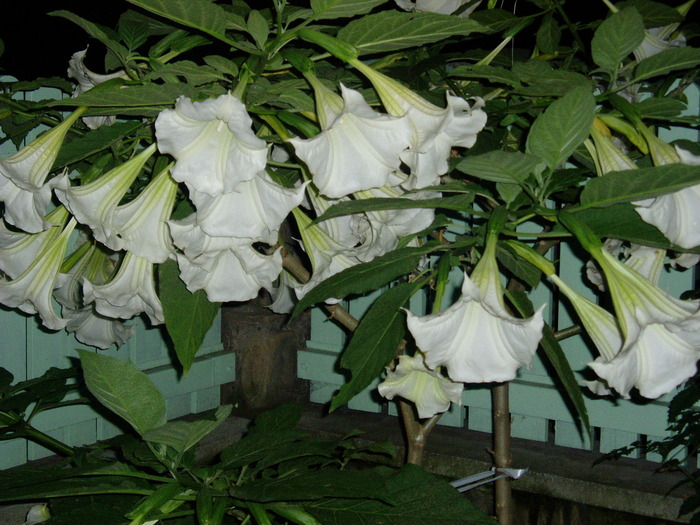
[[[698,87],[692,86],[686,92],[690,101],[688,113],[700,113]],[[662,130],[664,140],[686,139],[697,141],[697,131],[673,129]],[[575,254],[563,247],[560,257],[561,277],[577,291],[593,298],[593,293],[584,284],[582,269],[584,262]],[[456,276],[459,279],[459,272]],[[459,286],[455,282],[455,287]],[[574,286],[577,284],[577,286]],[[692,270],[678,272],[666,270],[660,280],[663,289],[678,297],[683,291],[695,285],[695,275]],[[356,317],[360,317],[372,303],[376,294],[345,301],[343,305]],[[558,316],[555,329],[566,328],[574,324],[567,304],[559,303],[551,290],[544,284],[532,293],[531,298],[536,305],[546,302],[549,306],[546,317],[551,323]],[[593,298],[593,300],[595,300]],[[416,298],[411,304],[414,313],[424,311],[421,299]],[[326,403],[343,383],[344,376],[338,365],[338,355],[345,344],[345,334],[332,321],[326,318],[321,310],[312,314],[312,333],[307,343],[307,349],[300,353],[298,362],[299,377],[311,381],[311,401]],[[580,337],[570,338],[562,343],[563,349],[574,371],[581,371],[592,361],[596,352],[591,350]],[[583,382],[579,374],[579,379]],[[370,385],[349,403],[349,407],[368,412],[388,412],[396,415],[393,403],[383,400],[376,391],[379,380]],[[517,379],[511,384],[511,413],[512,434],[539,442],[551,442],[556,445],[578,449],[599,450],[608,452],[615,448],[629,445],[631,442],[646,436],[658,439],[666,435],[666,412],[668,401],[672,395],[636,404],[624,399],[611,402],[607,399],[586,399],[586,407],[594,428],[594,439],[591,442],[583,436],[572,417],[549,374],[545,363],[538,355],[529,370],[522,370]],[[465,389],[462,396],[462,407],[453,406],[441,419],[441,425],[464,427],[470,430],[491,431],[491,397],[488,388],[472,386]],[[658,461],[655,455],[647,455],[645,459]],[[518,465],[520,466],[520,465]]]

